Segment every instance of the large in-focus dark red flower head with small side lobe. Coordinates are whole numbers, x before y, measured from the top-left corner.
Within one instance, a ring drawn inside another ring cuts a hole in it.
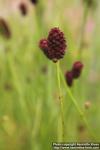
[[[66,50],[64,33],[56,27],[51,29],[47,39],[40,40],[39,46],[49,59],[57,61],[63,58]]]

